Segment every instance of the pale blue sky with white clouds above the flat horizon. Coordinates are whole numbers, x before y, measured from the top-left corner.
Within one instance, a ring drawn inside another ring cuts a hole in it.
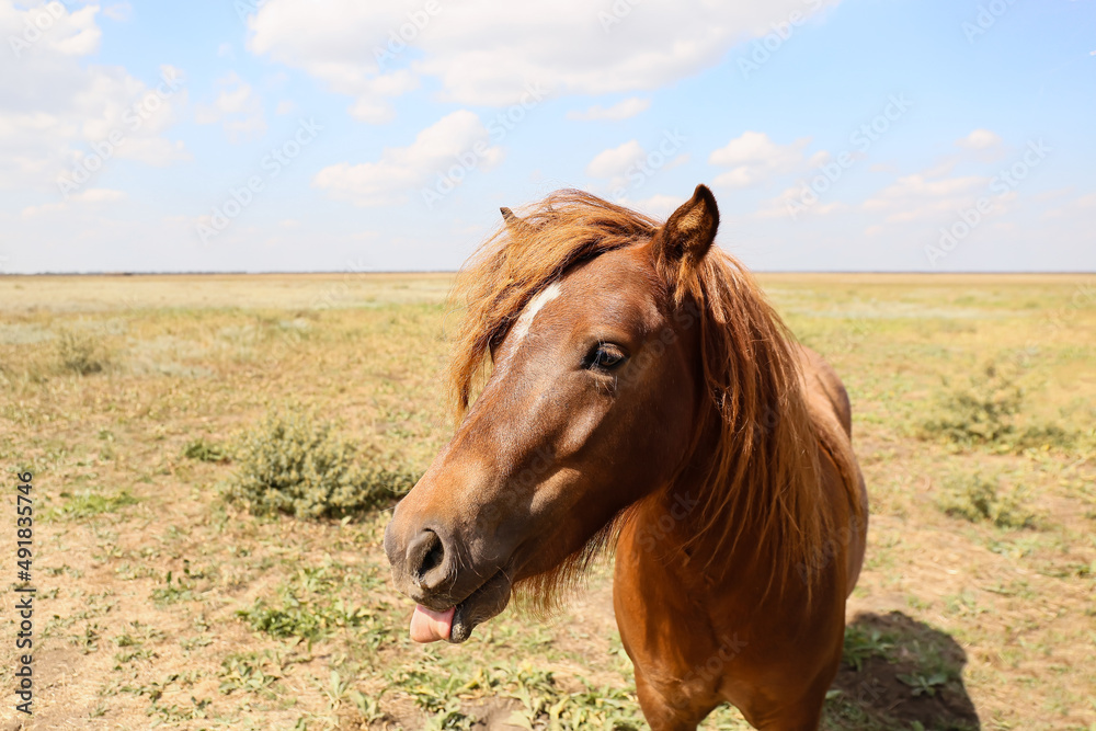
[[[1096,270],[1092,0],[0,0],[0,272],[453,270],[501,205],[699,182],[758,270]]]

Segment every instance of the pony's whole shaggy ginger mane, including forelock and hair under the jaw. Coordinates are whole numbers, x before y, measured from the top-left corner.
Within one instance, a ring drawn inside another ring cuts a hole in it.
[[[457,419],[487,376],[491,349],[537,293],[579,262],[649,242],[661,226],[571,190],[523,213],[480,247],[455,288],[467,308],[448,372]],[[688,471],[681,472],[682,480],[694,480],[681,489],[699,488],[699,527],[677,548],[717,575],[729,563],[721,567],[719,557],[775,561],[772,585],[784,586],[797,569],[817,564],[831,528],[795,341],[753,277],[716,247],[687,276],[664,286],[676,306],[695,307],[710,399],[683,462]],[[534,604],[550,607],[628,515],[624,511],[556,571],[525,582]]]

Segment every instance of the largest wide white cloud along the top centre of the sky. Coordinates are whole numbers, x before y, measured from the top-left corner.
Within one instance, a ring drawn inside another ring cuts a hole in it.
[[[269,0],[248,21],[248,48],[356,98],[358,118],[384,122],[391,99],[424,79],[443,101],[499,106],[518,101],[528,83],[555,95],[658,89],[718,64],[791,11],[812,8],[802,0]]]

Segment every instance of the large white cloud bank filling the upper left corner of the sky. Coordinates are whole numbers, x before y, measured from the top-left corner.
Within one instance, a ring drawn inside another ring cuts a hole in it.
[[[187,157],[162,136],[186,103],[178,69],[162,67],[149,87],[124,68],[82,62],[99,48],[99,10],[0,4],[0,37],[11,46],[0,54],[0,187],[57,193],[62,176],[93,158],[90,178],[115,157],[148,164]]]

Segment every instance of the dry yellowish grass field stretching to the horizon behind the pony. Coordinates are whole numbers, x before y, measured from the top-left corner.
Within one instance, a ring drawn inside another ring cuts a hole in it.
[[[1096,729],[1096,277],[761,279],[844,378],[871,498],[825,728]],[[512,607],[464,646],[407,637],[380,536],[449,430],[449,283],[0,277],[0,729],[646,728],[607,561],[547,624]],[[312,518],[226,499],[248,445],[277,446],[272,412],[329,422],[369,500]]]

